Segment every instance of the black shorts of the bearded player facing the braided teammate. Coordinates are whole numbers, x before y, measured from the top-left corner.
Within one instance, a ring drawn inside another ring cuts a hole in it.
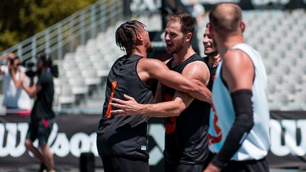
[[[205,164],[177,164],[164,161],[165,172],[203,172]]]

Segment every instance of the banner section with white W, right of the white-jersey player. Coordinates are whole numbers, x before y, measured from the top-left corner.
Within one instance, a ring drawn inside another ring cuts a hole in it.
[[[306,112],[272,111],[270,113],[271,167],[297,167],[306,164]]]

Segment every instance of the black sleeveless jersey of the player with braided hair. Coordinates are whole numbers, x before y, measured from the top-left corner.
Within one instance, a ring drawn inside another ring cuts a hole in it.
[[[120,57],[108,74],[103,116],[97,131],[99,154],[149,158],[147,117],[142,115],[114,117],[110,111],[115,108],[109,105],[112,98],[125,100],[123,94],[132,96],[138,103],[153,102],[150,87],[140,80],[136,71],[141,58],[138,55]]]

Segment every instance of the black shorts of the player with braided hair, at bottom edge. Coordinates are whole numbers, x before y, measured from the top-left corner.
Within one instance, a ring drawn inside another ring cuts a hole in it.
[[[104,172],[149,172],[148,159],[100,155]]]

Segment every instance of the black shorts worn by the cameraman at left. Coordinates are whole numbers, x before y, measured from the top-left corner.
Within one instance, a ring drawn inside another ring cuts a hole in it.
[[[32,142],[38,139],[38,144],[47,144],[54,122],[55,118],[31,121],[26,138],[30,139]]]

